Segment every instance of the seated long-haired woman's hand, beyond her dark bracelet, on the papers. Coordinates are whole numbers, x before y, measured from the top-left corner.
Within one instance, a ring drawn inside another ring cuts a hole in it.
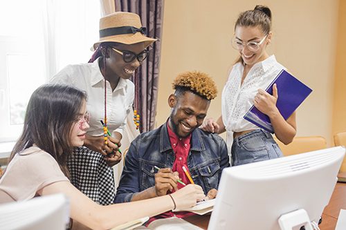
[[[188,184],[171,195],[176,204],[176,209],[188,209],[196,205],[197,201],[206,197],[201,186],[197,184]]]

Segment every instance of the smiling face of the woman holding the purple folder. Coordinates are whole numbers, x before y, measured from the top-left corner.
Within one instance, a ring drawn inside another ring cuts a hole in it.
[[[266,37],[260,26],[237,26],[235,28],[235,38],[242,41],[243,44],[247,44],[249,41],[260,43],[260,41],[266,37],[257,51],[249,50],[247,46],[244,46],[242,50],[239,50],[239,54],[246,65],[251,67],[257,62],[263,61],[268,57],[266,45],[270,43],[271,36],[272,34],[269,32],[268,36]]]

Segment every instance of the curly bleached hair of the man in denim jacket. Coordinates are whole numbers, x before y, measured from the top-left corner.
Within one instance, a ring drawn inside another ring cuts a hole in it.
[[[215,82],[208,74],[199,71],[188,71],[179,74],[172,85],[174,90],[190,90],[208,100],[217,96]]]

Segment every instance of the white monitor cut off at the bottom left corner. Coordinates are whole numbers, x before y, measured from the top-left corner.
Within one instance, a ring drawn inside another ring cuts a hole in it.
[[[69,200],[62,194],[1,204],[0,229],[65,230],[69,208]]]

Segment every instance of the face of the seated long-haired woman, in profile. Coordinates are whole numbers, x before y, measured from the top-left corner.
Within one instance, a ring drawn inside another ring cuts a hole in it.
[[[78,120],[75,121],[71,128],[70,142],[74,147],[82,146],[84,144],[86,129],[89,128],[89,124],[86,120],[86,102],[83,100],[80,112],[78,114]]]

